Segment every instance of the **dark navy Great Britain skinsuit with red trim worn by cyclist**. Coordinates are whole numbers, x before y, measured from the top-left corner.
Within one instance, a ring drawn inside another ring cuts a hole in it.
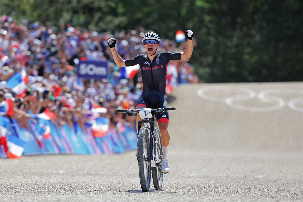
[[[125,60],[126,66],[140,65],[142,73],[143,93],[137,102],[137,106],[145,108],[167,107],[165,86],[167,65],[170,60],[181,60],[181,53],[161,52],[157,53],[153,61],[147,55],[138,55],[133,59]],[[168,112],[155,114],[158,122],[168,123]]]

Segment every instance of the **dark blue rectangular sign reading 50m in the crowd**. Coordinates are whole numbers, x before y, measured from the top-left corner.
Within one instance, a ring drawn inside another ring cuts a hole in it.
[[[105,79],[108,74],[108,63],[97,61],[79,61],[78,77],[79,78],[94,78]]]

